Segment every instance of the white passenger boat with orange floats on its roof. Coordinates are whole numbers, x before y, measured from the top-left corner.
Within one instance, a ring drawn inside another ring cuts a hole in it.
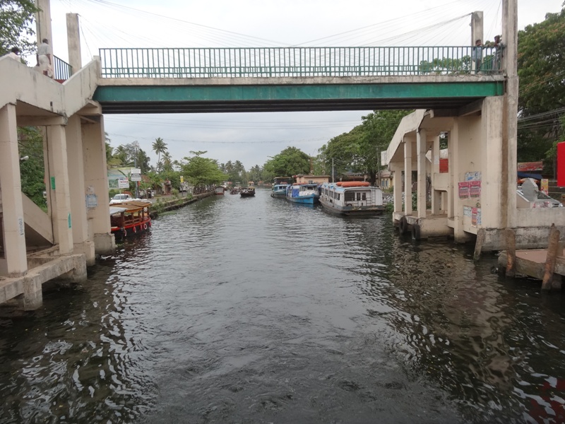
[[[366,181],[324,182],[320,203],[331,213],[372,216],[383,213],[383,191]]]

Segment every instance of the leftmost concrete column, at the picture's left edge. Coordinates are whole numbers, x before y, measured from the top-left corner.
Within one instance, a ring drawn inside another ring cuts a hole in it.
[[[4,236],[4,260],[0,259],[0,275],[23,276],[28,271],[25,251],[20,156],[16,106],[0,109],[0,193]]]

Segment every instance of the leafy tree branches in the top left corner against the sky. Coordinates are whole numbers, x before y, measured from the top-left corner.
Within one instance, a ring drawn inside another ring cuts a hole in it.
[[[15,46],[24,54],[35,49],[35,42],[30,41],[35,34],[31,25],[35,13],[33,0],[0,0],[0,56]]]

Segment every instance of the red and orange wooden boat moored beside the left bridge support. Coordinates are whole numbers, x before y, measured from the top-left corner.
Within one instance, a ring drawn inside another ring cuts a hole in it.
[[[151,228],[150,206],[151,202],[147,200],[131,200],[110,206],[110,226],[116,240],[149,230]]]

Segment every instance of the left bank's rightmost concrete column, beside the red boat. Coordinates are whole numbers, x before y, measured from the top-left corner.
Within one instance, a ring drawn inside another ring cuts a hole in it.
[[[110,254],[116,243],[110,228],[104,117],[100,115],[100,122],[83,124],[82,130],[85,188],[92,206],[87,213],[88,236],[97,254]]]

